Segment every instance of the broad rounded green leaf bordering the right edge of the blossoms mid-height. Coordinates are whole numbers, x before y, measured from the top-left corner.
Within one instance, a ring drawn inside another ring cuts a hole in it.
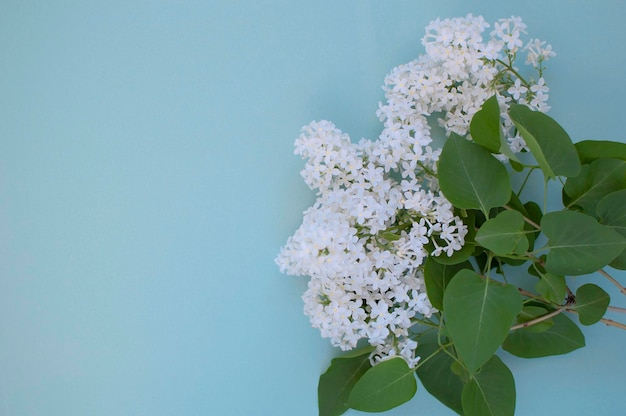
[[[506,168],[488,150],[452,134],[438,165],[439,186],[457,208],[480,209],[485,215],[507,203],[511,184]]]

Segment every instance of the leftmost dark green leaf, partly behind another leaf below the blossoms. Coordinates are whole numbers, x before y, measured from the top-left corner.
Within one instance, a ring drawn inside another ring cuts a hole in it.
[[[334,358],[330,367],[320,376],[317,401],[320,416],[339,416],[349,409],[348,396],[356,382],[372,366],[371,347],[358,350],[358,355]]]

